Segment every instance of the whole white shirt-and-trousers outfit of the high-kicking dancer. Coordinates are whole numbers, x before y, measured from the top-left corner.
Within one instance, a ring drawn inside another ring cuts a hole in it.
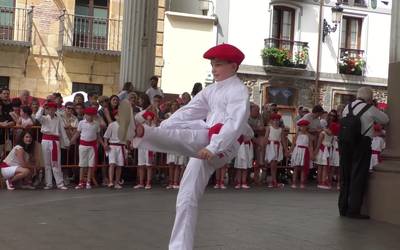
[[[211,175],[237,155],[238,138],[253,132],[247,123],[249,104],[248,89],[235,75],[206,87],[160,127],[145,126],[144,136],[133,140],[139,148],[192,157],[180,183],[170,250],[193,249],[198,201]],[[209,128],[218,123],[222,129],[209,139]],[[216,156],[198,159],[203,148]]]

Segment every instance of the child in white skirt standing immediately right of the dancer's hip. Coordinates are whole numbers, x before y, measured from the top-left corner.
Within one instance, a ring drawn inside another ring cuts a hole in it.
[[[247,185],[247,169],[252,167],[253,163],[253,144],[251,137],[244,138],[239,146],[237,156],[235,158],[234,168],[236,169],[235,189],[249,189]]]

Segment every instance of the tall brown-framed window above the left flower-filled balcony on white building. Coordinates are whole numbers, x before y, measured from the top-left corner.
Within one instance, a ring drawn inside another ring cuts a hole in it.
[[[276,47],[286,48],[291,50],[291,43],[284,43],[280,40],[293,41],[294,39],[294,18],[295,10],[284,7],[274,6],[273,11],[273,26],[272,26],[272,38],[276,40]]]

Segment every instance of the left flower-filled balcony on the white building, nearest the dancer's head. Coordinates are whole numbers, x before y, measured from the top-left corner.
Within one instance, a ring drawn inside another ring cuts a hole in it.
[[[308,43],[277,38],[267,38],[264,43],[261,51],[264,65],[307,68]]]

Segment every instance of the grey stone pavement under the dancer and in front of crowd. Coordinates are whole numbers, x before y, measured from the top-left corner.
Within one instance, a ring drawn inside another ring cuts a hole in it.
[[[0,191],[1,250],[167,249],[176,191]],[[195,249],[400,249],[400,227],[340,218],[337,192],[208,189]]]

